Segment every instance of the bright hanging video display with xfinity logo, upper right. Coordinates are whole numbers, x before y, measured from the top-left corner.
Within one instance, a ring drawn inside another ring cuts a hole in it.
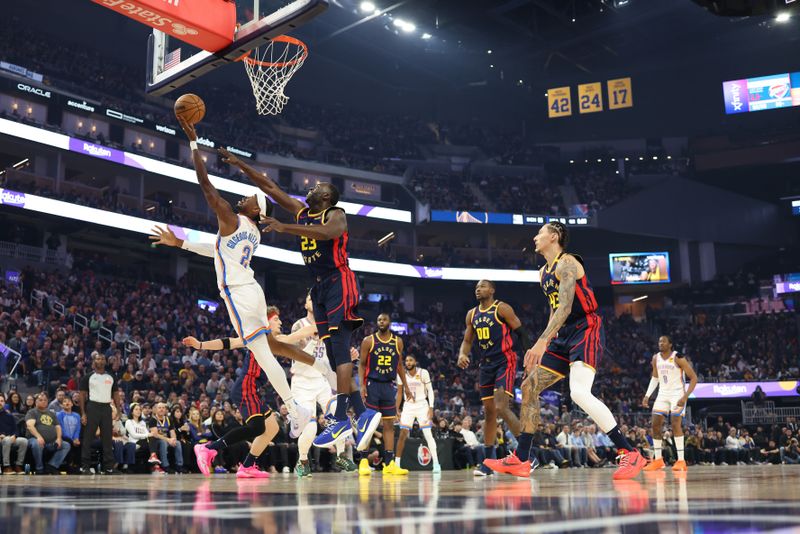
[[[722,82],[725,113],[800,106],[800,72]]]

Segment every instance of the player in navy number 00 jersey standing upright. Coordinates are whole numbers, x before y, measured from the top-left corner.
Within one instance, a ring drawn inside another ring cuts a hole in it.
[[[481,400],[486,419],[483,429],[484,452],[487,459],[496,459],[498,414],[508,424],[514,435],[519,434],[519,419],[511,411],[508,399],[514,395],[517,376],[517,353],[514,350],[514,332],[523,349],[530,346],[530,336],[522,326],[514,309],[494,298],[495,285],[481,280],[475,286],[478,305],[467,312],[467,328],[458,355],[458,366],[466,369],[470,352],[478,359],[480,369]],[[491,470],[481,465],[476,476],[486,476]]]

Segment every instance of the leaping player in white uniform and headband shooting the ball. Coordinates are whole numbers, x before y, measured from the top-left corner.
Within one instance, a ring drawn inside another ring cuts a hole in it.
[[[292,437],[297,437],[311,415],[292,398],[289,382],[278,360],[272,354],[268,337],[267,301],[264,290],[256,282],[250,261],[261,243],[261,232],[256,226],[262,217],[272,213],[272,203],[264,195],[245,197],[237,204],[238,215],[227,200],[211,184],[203,157],[197,148],[194,126],[179,120],[189,138],[192,161],[197,180],[209,207],[214,210],[219,223],[216,243],[190,243],[175,237],[168,229],[156,228],[150,239],[155,244],[177,246],[203,256],[214,258],[220,296],[228,309],[233,328],[250,349],[258,365],[264,369],[272,387],[281,396],[289,411]]]

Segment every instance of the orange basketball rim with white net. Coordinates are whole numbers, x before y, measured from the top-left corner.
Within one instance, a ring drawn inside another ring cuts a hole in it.
[[[259,115],[277,115],[283,110],[289,101],[283,90],[307,57],[308,47],[303,41],[280,35],[253,49],[252,57],[248,52],[239,58],[253,86]]]

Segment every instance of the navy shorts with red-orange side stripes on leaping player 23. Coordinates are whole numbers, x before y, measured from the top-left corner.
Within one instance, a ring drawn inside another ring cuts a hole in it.
[[[338,330],[342,323],[348,323],[353,330],[364,324],[364,319],[358,316],[360,295],[358,279],[350,269],[343,268],[325,278],[317,278],[317,283],[311,288],[311,302],[321,340]],[[349,352],[338,356],[342,361],[336,361],[335,356],[328,354],[334,370],[339,365],[350,363]]]

